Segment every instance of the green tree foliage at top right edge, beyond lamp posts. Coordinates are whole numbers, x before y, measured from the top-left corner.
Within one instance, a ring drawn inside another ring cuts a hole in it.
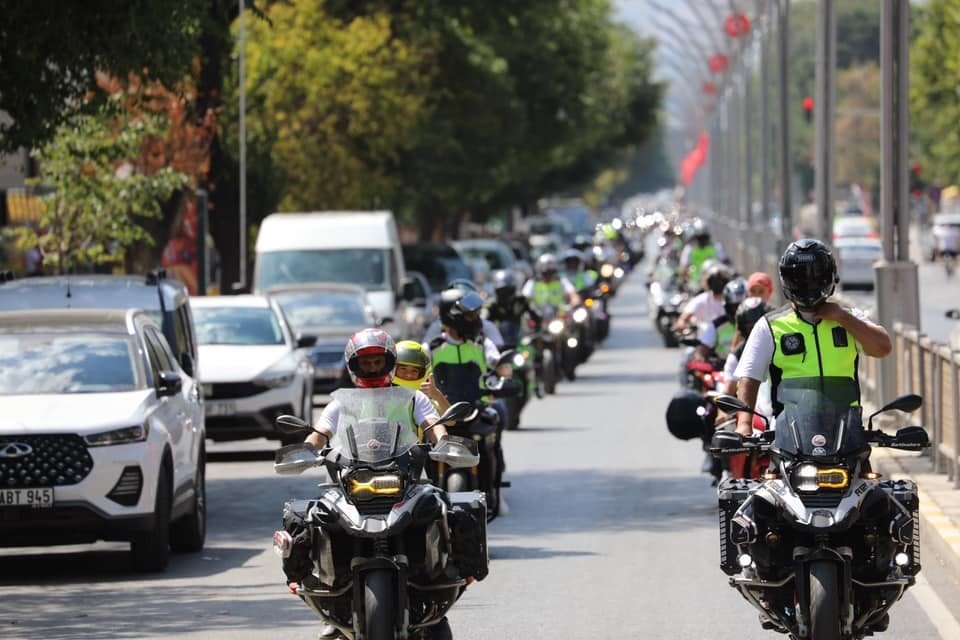
[[[915,14],[910,50],[912,134],[924,175],[960,183],[960,0],[931,0]]]

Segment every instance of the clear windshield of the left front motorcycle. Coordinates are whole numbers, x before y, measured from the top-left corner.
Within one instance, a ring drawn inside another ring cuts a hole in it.
[[[332,395],[340,403],[340,418],[330,447],[342,457],[378,464],[417,444],[409,389],[338,389]]]

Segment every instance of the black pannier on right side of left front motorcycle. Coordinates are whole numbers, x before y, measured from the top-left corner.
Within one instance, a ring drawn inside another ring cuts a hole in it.
[[[453,563],[463,578],[483,580],[489,572],[487,503],[480,491],[448,493],[450,545]]]

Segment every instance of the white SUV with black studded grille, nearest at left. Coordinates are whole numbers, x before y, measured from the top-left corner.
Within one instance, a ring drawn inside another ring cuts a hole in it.
[[[203,548],[204,464],[199,391],[145,312],[0,313],[0,546],[129,541],[161,571]]]

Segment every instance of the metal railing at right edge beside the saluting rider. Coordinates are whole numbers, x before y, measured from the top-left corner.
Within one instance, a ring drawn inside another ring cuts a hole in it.
[[[960,489],[960,352],[933,342],[914,327],[893,325],[893,354],[897,392],[923,396],[921,424],[930,433],[928,454],[936,473],[946,473]],[[879,397],[878,361],[860,359],[860,389],[864,400],[879,407],[890,398]]]

